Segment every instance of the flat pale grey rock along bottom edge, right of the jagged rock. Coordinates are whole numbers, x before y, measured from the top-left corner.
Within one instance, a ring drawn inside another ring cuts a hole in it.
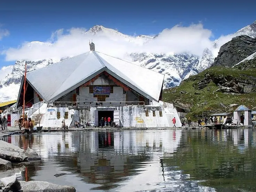
[[[45,181],[21,181],[21,187],[24,192],[75,192],[72,186],[62,186]]]

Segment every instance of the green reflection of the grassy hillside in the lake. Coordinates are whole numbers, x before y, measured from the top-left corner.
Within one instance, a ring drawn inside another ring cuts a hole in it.
[[[180,172],[187,181],[203,181],[199,182],[201,186],[214,187],[219,192],[256,191],[255,129],[185,131],[180,145],[183,147],[174,153],[175,158],[163,159],[170,170],[169,180],[175,181]],[[187,183],[181,181],[178,184]],[[183,191],[195,189],[187,186]]]

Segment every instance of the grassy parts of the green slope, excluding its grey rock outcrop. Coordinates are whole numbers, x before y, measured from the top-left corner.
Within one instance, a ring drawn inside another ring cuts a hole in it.
[[[221,107],[220,103],[226,106],[230,104],[244,104],[250,106],[250,108],[256,109],[256,93],[231,95],[224,94],[222,92],[215,92],[219,87],[215,83],[210,82],[207,87],[202,90],[198,89],[198,82],[204,77],[206,73],[214,75],[231,75],[233,77],[245,78],[246,76],[256,77],[256,69],[250,70],[238,70],[227,67],[210,67],[198,75],[193,75],[189,79],[181,83],[180,86],[163,90],[163,101],[175,103],[180,102],[183,104],[191,105],[191,112],[187,115],[188,117],[198,117],[202,115],[202,111],[205,114],[211,114],[214,112],[228,112],[235,109],[229,107],[225,109]],[[181,94],[181,91],[186,93]],[[198,94],[195,94],[198,93]],[[207,104],[203,104],[207,102]]]

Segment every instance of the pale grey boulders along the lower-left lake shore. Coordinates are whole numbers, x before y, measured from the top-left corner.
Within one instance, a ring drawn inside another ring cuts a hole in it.
[[[23,150],[18,146],[0,140],[0,192],[75,192],[72,186],[61,186],[43,181],[18,181],[14,175],[13,163],[41,160],[32,149]],[[9,171],[10,170],[10,171]],[[12,176],[7,176],[12,174]],[[7,177],[6,177],[7,176]]]

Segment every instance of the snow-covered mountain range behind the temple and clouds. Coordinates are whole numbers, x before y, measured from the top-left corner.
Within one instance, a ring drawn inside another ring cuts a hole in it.
[[[97,37],[104,37],[111,39],[112,41],[126,41],[133,43],[134,45],[144,45],[159,38],[160,35],[148,36],[138,35],[131,36],[118,32],[114,29],[108,29],[101,25],[91,27],[86,34],[96,35]],[[213,42],[212,48],[206,48],[201,56],[195,56],[190,53],[182,54],[162,54],[162,53],[144,53],[133,51],[133,53],[127,53],[125,60],[134,62],[135,64],[147,67],[148,69],[165,74],[164,88],[178,86],[179,83],[188,78],[190,75],[197,74],[207,69],[214,61],[214,55],[218,52],[221,45],[231,40],[233,37],[239,35],[249,35],[256,37],[256,21],[243,27],[229,37],[223,39],[222,37]],[[41,46],[51,47],[53,44],[33,41],[28,46]],[[59,58],[42,59],[40,61],[27,61],[27,71],[33,71],[41,67],[53,64],[60,61]],[[24,74],[25,61],[16,61],[12,66],[8,66],[0,70],[0,102],[10,101],[17,98],[19,85],[21,82],[22,74]]]

